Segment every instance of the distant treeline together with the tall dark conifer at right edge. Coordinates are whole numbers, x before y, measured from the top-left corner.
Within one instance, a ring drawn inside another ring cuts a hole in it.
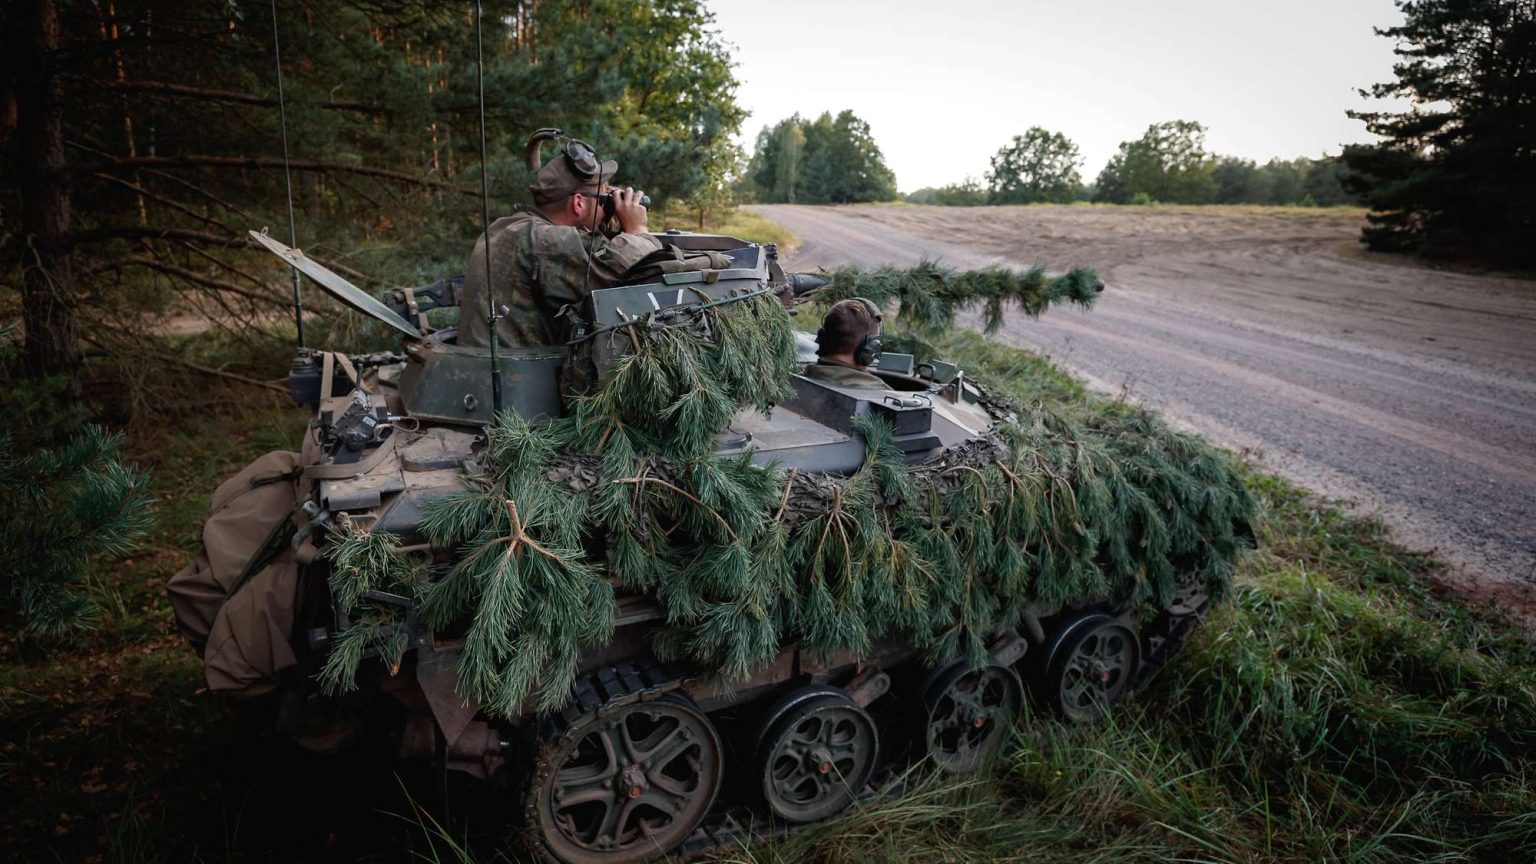
[[[1338,157],[1256,164],[1206,152],[1204,126],[1157,123],[1123,141],[1094,183],[1077,146],[1034,128],[992,157],[986,180],[919,189],[908,200],[1000,204],[1366,204],[1361,240],[1498,266],[1536,266],[1536,3],[1398,0],[1395,80],[1366,95],[1405,111],[1350,111],[1381,137]]]

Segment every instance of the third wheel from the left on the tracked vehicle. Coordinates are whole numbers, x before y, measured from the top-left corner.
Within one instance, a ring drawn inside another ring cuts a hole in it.
[[[1023,706],[1023,686],[1006,666],[955,660],[928,676],[923,741],[945,773],[971,773],[997,753]]]

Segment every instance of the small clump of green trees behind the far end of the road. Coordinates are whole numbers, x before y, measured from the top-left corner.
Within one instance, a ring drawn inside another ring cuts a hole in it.
[[[852,204],[895,200],[895,174],[869,125],[843,111],[814,121],[799,114],[757,134],[740,197],[773,204]]]

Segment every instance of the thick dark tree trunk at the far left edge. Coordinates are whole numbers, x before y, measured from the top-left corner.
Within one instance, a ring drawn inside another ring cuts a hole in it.
[[[69,257],[69,174],[65,166],[55,0],[18,0],[5,28],[6,74],[17,106],[17,186],[22,192],[23,358],[29,375],[78,384],[80,321]]]

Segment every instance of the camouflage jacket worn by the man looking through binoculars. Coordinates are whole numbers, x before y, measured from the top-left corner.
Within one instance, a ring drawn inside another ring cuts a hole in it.
[[[490,258],[496,303],[508,309],[496,334],[507,347],[561,344],[565,324],[556,315],[587,291],[613,287],[645,255],[662,248],[650,234],[598,235],[587,283],[590,231],[554,224],[542,212],[518,206],[490,226]],[[485,237],[475,243],[459,295],[459,344],[490,344],[485,326]]]

